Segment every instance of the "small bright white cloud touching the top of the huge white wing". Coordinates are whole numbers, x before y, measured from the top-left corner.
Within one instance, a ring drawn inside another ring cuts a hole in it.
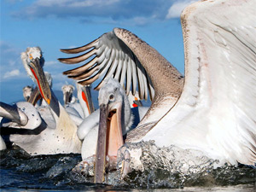
[[[189,4],[195,3],[195,0],[185,0],[185,1],[177,1],[173,3],[172,6],[168,9],[168,14],[166,15],[166,19],[179,18],[183,9],[189,6]]]

